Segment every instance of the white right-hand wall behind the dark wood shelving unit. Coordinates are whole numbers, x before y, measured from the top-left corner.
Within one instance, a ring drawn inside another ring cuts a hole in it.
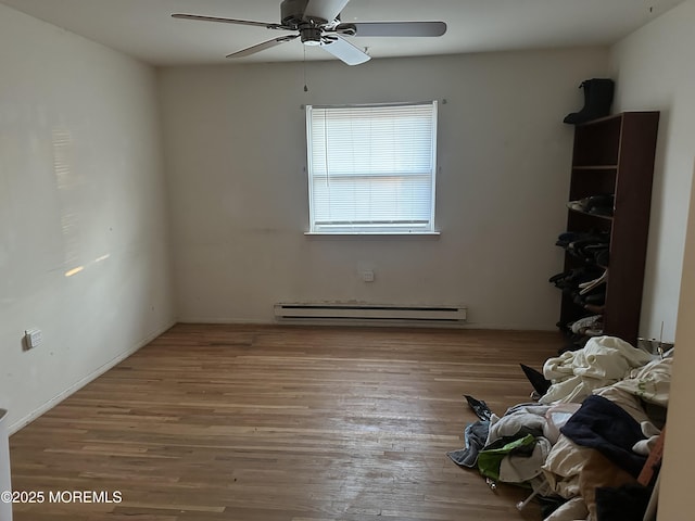
[[[661,111],[641,334],[673,341],[695,132],[695,3],[685,2],[612,49],[616,109]]]

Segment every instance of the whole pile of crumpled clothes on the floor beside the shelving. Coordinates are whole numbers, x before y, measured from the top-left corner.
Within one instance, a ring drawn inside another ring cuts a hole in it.
[[[498,417],[467,395],[479,420],[448,456],[491,483],[531,488],[545,521],[642,521],[654,480],[637,478],[665,427],[671,355],[592,338],[546,360],[540,381],[529,377],[536,402]]]

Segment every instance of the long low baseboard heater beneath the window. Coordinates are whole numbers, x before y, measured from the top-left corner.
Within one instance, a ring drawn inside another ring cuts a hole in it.
[[[352,303],[279,303],[275,318],[281,321],[420,322],[459,323],[466,321],[463,306],[406,306]]]

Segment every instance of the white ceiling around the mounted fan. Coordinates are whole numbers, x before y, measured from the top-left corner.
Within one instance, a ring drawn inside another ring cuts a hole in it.
[[[343,22],[442,21],[439,38],[354,38],[372,58],[610,45],[683,0],[352,0]],[[280,22],[280,0],[0,0],[153,65],[229,63],[281,34],[174,20],[175,12]],[[306,56],[304,55],[306,50]],[[332,59],[299,40],[233,62]]]

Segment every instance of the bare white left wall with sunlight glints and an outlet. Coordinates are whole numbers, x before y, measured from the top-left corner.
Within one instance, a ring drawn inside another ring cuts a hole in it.
[[[15,431],[174,313],[154,71],[4,5],[0,69],[0,407]],[[43,343],[24,351],[28,328]]]

